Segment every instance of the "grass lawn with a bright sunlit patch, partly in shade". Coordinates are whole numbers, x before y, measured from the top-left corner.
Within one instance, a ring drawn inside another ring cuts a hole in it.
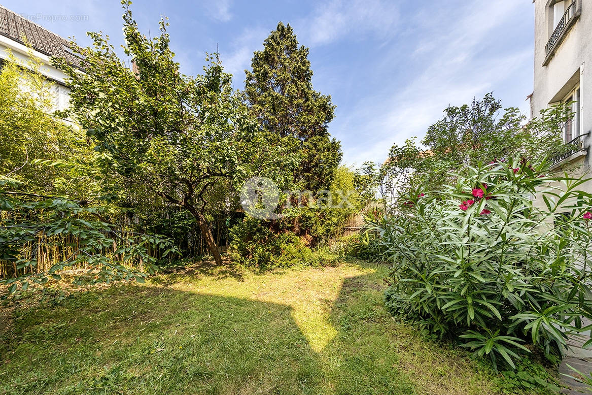
[[[497,393],[486,365],[389,316],[385,274],[194,268],[17,310],[0,393]]]

